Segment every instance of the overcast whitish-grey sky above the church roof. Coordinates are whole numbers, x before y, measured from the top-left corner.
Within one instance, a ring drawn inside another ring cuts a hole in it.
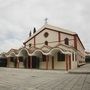
[[[30,30],[48,24],[78,33],[90,51],[90,0],[0,0],[0,52],[20,48]]]

